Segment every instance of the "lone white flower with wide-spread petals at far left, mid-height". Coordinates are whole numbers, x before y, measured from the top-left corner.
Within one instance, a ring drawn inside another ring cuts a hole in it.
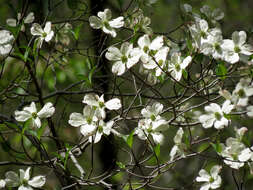
[[[32,119],[32,125],[40,128],[42,118],[51,117],[55,112],[55,108],[51,102],[46,103],[43,108],[37,112],[37,108],[34,102],[30,106],[24,107],[23,111],[15,111],[15,119],[20,122],[25,122],[28,119]]]

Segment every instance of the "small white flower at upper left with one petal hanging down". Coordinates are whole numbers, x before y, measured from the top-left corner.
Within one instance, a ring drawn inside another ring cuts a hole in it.
[[[54,31],[51,29],[51,22],[46,22],[44,29],[42,29],[39,24],[34,23],[31,27],[31,34],[34,36],[39,36],[37,41],[39,48],[41,48],[44,40],[49,42],[54,36]]]

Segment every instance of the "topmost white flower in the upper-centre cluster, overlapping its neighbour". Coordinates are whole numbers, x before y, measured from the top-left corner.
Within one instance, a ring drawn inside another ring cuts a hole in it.
[[[141,61],[145,69],[154,69],[157,67],[153,57],[156,55],[159,49],[163,46],[163,36],[157,36],[152,42],[147,34],[138,39],[138,45],[140,47]]]

